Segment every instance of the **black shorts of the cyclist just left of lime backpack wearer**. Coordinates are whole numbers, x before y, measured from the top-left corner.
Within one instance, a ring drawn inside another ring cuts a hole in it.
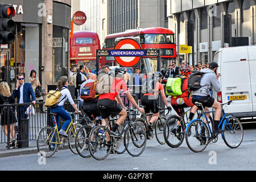
[[[141,104],[144,106],[145,113],[150,113],[150,111],[153,114],[159,113],[158,100],[154,96],[143,96]]]

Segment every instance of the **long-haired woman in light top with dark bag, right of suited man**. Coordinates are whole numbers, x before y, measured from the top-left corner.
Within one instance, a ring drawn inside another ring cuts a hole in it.
[[[36,71],[34,69],[32,69],[30,72],[30,78],[28,79],[28,82],[31,83],[32,88],[35,92],[36,101],[43,102],[43,96],[46,95],[46,92],[44,92],[44,90],[42,89],[39,78],[36,76]],[[43,92],[41,93],[41,96],[38,96],[38,94],[36,94],[36,89],[40,89],[41,92]],[[43,111],[43,105],[40,105],[40,111]]]

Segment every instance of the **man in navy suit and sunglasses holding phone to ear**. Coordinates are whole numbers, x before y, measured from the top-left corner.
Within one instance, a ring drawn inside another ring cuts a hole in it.
[[[36,97],[34,90],[32,88],[32,85],[30,83],[25,83],[24,76],[22,73],[20,73],[18,76],[18,81],[16,84],[16,88],[13,92],[14,98],[17,98],[18,104],[24,104],[24,103],[30,103],[31,97],[32,97],[32,103],[36,103]],[[18,113],[18,119],[27,118],[27,114],[25,114],[27,107],[26,106],[18,106],[17,107],[17,113]]]

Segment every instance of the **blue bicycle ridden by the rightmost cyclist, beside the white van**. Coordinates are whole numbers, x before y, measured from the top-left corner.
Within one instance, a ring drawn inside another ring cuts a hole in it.
[[[230,148],[237,148],[242,143],[243,139],[243,127],[240,120],[232,115],[226,116],[223,106],[230,105],[232,101],[228,101],[221,104],[222,118],[218,127],[224,129],[224,133],[221,134],[225,144]],[[204,117],[207,121],[206,113],[213,113],[214,111],[204,111],[201,103],[195,103],[198,107],[203,109]],[[213,134],[210,129],[209,123],[203,122],[203,119],[194,119],[188,123],[185,130],[186,142],[190,150],[193,152],[201,152],[205,150],[210,142],[216,143],[218,135]],[[212,123],[214,126],[214,123]]]

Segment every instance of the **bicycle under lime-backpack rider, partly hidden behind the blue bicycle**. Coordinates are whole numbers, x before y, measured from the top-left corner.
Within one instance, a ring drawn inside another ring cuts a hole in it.
[[[184,131],[188,123],[187,113],[190,109],[191,108],[184,110],[183,107],[180,107],[181,114],[179,116],[170,115],[170,117],[167,118],[167,122],[164,123],[163,136],[168,146],[172,148],[176,148],[183,143],[183,140],[185,137]],[[197,109],[197,119],[200,119],[203,116],[202,112],[203,112],[202,110]],[[185,116],[187,117],[186,120],[185,120]],[[211,116],[209,116],[209,119],[211,122],[213,122],[213,119]]]

